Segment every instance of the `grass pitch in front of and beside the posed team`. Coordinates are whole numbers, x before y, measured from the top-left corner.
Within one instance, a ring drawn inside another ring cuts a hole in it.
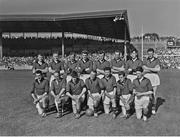
[[[101,114],[98,118],[55,113],[40,118],[32,103],[30,71],[0,71],[0,135],[180,135],[180,71],[163,70],[158,89],[158,112],[148,122],[135,114],[125,120]]]

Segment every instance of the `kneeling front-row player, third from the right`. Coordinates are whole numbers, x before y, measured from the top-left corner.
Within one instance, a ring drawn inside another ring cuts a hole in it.
[[[116,78],[111,74],[111,68],[104,68],[105,76],[102,78],[104,88],[103,105],[106,114],[110,112],[112,103],[113,118],[116,118]]]

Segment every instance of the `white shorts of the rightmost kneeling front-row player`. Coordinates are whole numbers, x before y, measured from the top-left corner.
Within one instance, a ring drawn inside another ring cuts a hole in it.
[[[135,96],[135,109],[147,108],[149,105],[149,96],[142,96],[140,99]]]

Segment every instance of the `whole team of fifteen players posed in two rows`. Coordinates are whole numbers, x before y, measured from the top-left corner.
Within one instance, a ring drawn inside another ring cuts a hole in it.
[[[137,118],[146,121],[150,101],[152,114],[156,113],[155,95],[160,85],[159,60],[154,57],[154,49],[148,49],[147,53],[148,58],[141,61],[137,50],[133,50],[131,59],[125,62],[122,52],[115,51],[114,59],[109,62],[101,51],[98,61],[93,62],[88,58],[88,52],[83,51],[81,60],[76,61],[72,53],[66,63],[58,59],[58,53],[53,53],[53,61],[49,65],[43,61],[42,55],[38,55],[33,65],[35,80],[31,90],[38,113],[46,116],[50,93],[54,97],[57,117],[62,116],[58,105],[71,98],[74,116],[79,118],[81,104],[87,95],[87,105],[96,117],[102,100],[104,112],[109,114],[112,108],[115,118],[116,99],[119,98],[123,117],[129,117],[129,110],[134,104]]]

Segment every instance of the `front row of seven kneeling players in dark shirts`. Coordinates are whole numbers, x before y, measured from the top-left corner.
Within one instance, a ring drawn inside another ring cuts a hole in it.
[[[89,109],[93,110],[95,117],[98,116],[98,107],[102,102],[104,112],[109,114],[112,110],[113,118],[117,116],[119,105],[122,117],[125,118],[130,116],[130,109],[134,105],[137,119],[143,118],[146,121],[153,87],[150,80],[144,77],[142,67],[137,67],[134,71],[137,78],[133,82],[126,77],[124,71],[118,73],[119,80],[116,82],[110,67],[104,68],[102,79],[98,78],[97,71],[91,71],[90,77],[85,82],[79,78],[76,71],[71,73],[72,79],[69,82],[66,82],[66,78],[62,74],[54,72],[50,93],[54,97],[57,117],[61,117],[63,113],[63,109],[59,110],[59,104],[63,106],[64,102],[71,98],[74,116],[79,118],[81,105],[87,95],[87,105]],[[44,79],[40,70],[37,70],[35,75],[31,94],[38,113],[44,117],[48,106],[49,81]],[[119,104],[117,104],[117,100],[119,100]]]

